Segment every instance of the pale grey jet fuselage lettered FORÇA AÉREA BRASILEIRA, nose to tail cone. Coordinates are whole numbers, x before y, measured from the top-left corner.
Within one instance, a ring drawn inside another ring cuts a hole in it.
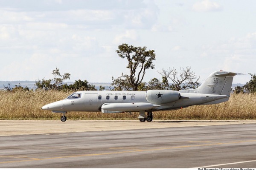
[[[161,90],[154,91],[156,92],[156,97],[161,99],[161,97],[157,96]],[[147,101],[146,91],[77,91],[74,94],[80,94],[80,97],[66,98],[53,102],[45,105],[42,109],[55,113],[71,111],[102,111],[103,113],[122,113],[140,110],[163,111],[185,108],[191,105],[202,105],[219,99],[227,98],[228,100],[229,97],[227,95],[180,93],[180,99],[159,105]]]

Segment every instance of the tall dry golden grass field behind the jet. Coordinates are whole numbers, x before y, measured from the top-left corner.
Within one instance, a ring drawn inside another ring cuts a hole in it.
[[[50,102],[64,99],[72,92],[0,91],[0,120],[58,120],[60,113],[42,111]],[[138,113],[72,112],[70,120],[137,119]],[[191,106],[175,111],[153,113],[154,119],[256,119],[256,94],[232,94],[228,102]]]

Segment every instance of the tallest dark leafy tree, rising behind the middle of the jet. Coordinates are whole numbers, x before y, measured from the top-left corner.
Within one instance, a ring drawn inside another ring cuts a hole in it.
[[[145,71],[149,68],[154,69],[153,61],[156,55],[154,50],[147,51],[146,49],[146,47],[134,47],[128,44],[118,46],[116,53],[119,57],[127,59],[128,65],[126,68],[130,70],[130,75],[122,73],[122,76],[117,79],[112,77],[111,85],[114,85],[114,90],[138,90]]]

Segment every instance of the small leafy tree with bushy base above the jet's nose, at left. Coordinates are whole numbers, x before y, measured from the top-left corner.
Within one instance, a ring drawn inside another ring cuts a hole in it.
[[[64,73],[63,75],[60,74],[59,69],[56,68],[52,71],[53,79],[42,79],[35,82],[35,85],[37,88],[41,89],[53,89],[53,90],[61,90],[62,89],[62,83],[64,80],[70,79],[69,73]]]

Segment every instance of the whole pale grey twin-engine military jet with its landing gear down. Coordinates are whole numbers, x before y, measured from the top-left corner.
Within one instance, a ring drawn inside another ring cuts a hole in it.
[[[236,73],[215,71],[204,83],[189,90],[148,91],[77,91],[66,99],[43,106],[52,113],[71,111],[101,111],[102,113],[139,112],[140,122],[151,122],[153,111],[167,111],[192,105],[210,105],[228,101],[233,77]],[[145,116],[145,112],[147,115]]]

